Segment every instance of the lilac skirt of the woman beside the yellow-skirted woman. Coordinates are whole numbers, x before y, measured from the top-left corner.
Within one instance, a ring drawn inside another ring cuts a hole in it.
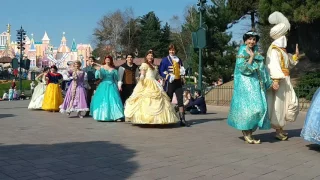
[[[60,112],[70,113],[70,112],[89,111],[89,108],[87,105],[86,89],[83,86],[79,85],[76,87],[75,92],[73,92],[74,90],[73,86],[74,86],[73,83],[71,84],[71,86],[69,86],[66,96],[64,98],[63,104],[61,104],[60,106]],[[74,93],[74,99],[72,100],[73,93]]]

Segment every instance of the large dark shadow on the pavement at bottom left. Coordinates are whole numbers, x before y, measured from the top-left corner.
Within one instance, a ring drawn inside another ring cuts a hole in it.
[[[0,145],[0,179],[129,178],[139,167],[136,152],[106,141]]]

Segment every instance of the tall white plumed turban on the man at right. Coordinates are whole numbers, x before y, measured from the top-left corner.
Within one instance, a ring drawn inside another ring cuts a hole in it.
[[[278,39],[290,30],[290,23],[281,12],[275,11],[269,16],[268,20],[270,24],[275,24],[270,30],[272,39]]]

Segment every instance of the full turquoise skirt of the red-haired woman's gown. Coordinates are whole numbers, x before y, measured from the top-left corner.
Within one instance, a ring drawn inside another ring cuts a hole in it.
[[[102,81],[99,84],[91,100],[90,115],[97,121],[115,121],[124,117],[116,83]]]

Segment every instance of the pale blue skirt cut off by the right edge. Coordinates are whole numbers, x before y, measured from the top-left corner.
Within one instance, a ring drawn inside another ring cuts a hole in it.
[[[320,88],[312,98],[301,137],[306,141],[320,144]]]

